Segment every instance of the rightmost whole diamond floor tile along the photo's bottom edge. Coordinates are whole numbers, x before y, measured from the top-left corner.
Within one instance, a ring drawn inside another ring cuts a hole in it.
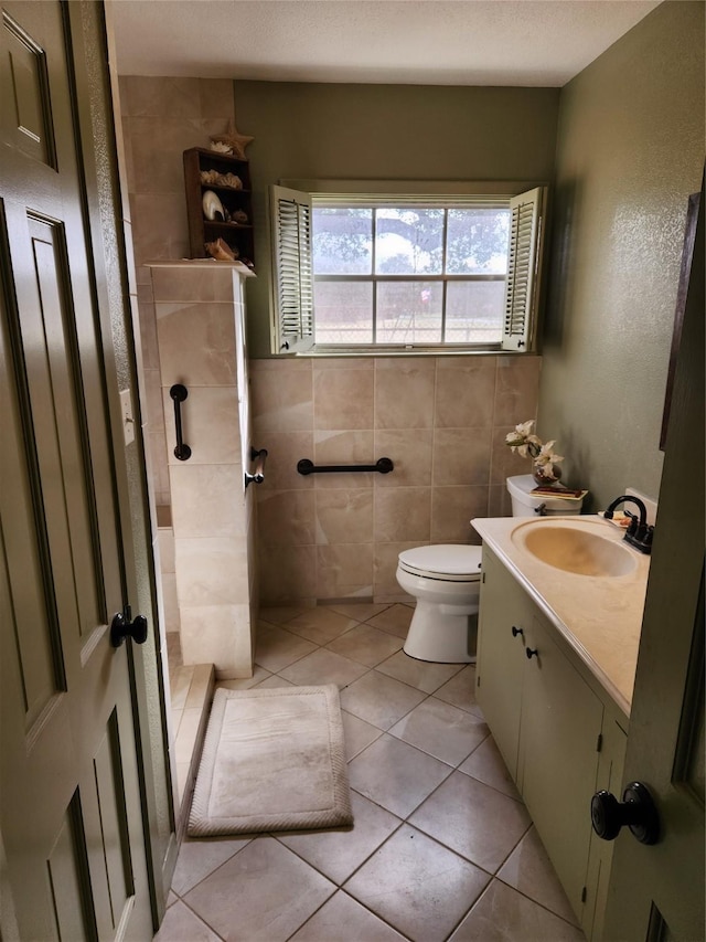
[[[478,867],[403,825],[344,889],[415,942],[441,942],[488,880]]]

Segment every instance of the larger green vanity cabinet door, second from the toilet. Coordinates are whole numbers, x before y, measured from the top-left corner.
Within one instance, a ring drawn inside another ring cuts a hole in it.
[[[534,618],[525,658],[518,775],[522,796],[581,915],[603,705]]]

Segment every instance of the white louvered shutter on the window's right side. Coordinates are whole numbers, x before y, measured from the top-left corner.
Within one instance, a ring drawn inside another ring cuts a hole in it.
[[[537,187],[510,201],[512,221],[503,318],[503,350],[524,352],[532,346],[536,321],[539,264],[544,241],[546,188]]]

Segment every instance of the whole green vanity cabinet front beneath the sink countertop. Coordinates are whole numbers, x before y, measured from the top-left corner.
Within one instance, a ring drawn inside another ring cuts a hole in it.
[[[620,790],[624,718],[498,558],[483,548],[477,699],[588,939],[600,938],[612,844],[591,828]]]

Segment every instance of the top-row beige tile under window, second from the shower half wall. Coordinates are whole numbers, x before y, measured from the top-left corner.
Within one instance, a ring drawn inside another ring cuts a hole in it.
[[[372,428],[373,371],[314,370],[314,428]]]

